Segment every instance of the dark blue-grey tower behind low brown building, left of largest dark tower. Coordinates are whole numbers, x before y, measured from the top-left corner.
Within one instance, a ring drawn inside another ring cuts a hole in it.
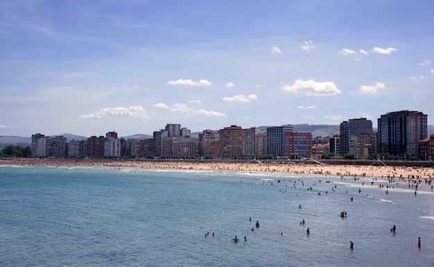
[[[346,120],[340,123],[340,155],[347,153],[357,154],[351,150],[351,141],[355,142],[356,136],[363,133],[372,133],[372,121],[366,118]],[[352,147],[355,147],[352,145]],[[356,155],[361,156],[361,155]]]

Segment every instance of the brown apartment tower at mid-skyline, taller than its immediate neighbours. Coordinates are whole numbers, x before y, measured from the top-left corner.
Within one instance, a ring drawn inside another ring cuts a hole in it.
[[[222,158],[243,155],[243,129],[236,125],[220,129],[220,156]]]

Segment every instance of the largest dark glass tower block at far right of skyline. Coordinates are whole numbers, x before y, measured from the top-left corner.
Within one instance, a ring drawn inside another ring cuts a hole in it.
[[[378,153],[419,155],[419,140],[428,137],[428,116],[419,111],[395,111],[378,119]]]

